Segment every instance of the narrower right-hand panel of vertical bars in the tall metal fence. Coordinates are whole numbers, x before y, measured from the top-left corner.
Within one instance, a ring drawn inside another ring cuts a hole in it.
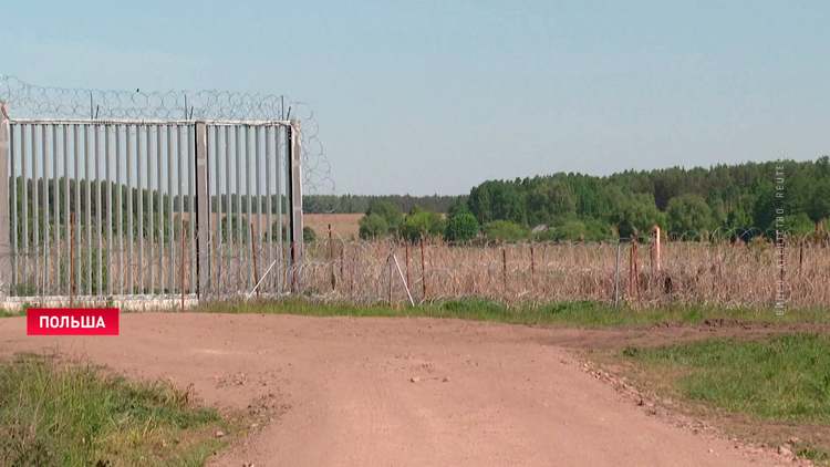
[[[283,258],[288,257],[289,237],[294,235],[288,227],[293,216],[284,209],[291,199],[290,184],[282,183],[292,179],[283,176],[291,169],[291,148],[284,144],[289,128],[284,122],[206,125],[214,293],[252,290],[274,262],[270,280],[261,281],[259,291],[287,291]],[[284,221],[283,212],[288,215]]]

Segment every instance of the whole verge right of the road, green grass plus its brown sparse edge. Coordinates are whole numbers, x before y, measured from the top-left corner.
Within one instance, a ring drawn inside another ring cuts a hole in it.
[[[663,396],[699,406],[759,443],[797,436],[792,450],[827,464],[830,453],[830,336],[708,339],[616,351],[622,373]]]

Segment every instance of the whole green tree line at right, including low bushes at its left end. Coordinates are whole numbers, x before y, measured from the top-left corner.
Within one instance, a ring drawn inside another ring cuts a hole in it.
[[[718,231],[748,240],[775,235],[776,228],[796,236],[823,235],[830,217],[830,159],[488,180],[450,207],[447,219],[433,216],[435,225],[424,209],[403,215],[403,207],[390,205],[376,203],[366,210],[363,238],[381,235],[381,220],[386,235],[409,238],[416,231],[449,240],[483,231],[495,239],[596,241],[642,237],[653,226],[682,239]],[[407,226],[411,217],[419,227]],[[463,232],[456,218],[464,219]],[[540,225],[548,229],[532,234]]]

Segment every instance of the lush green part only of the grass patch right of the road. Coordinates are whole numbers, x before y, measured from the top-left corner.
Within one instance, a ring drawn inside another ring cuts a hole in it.
[[[710,339],[623,353],[682,370],[674,384],[686,398],[769,422],[830,425],[828,335]]]

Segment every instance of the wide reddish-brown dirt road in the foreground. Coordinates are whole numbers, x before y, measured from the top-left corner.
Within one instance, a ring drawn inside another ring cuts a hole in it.
[[[649,416],[557,345],[573,331],[189,313],[123,314],[121,330],[29,338],[2,319],[0,353],[58,346],[194,384],[208,404],[277,411],[212,466],[776,465]]]

